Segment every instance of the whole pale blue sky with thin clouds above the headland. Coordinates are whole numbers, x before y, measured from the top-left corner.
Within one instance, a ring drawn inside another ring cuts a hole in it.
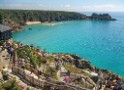
[[[0,9],[124,12],[124,0],[0,0]]]

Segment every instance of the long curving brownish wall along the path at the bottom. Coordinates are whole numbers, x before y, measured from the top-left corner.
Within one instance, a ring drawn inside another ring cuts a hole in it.
[[[12,71],[16,74],[21,75],[26,81],[28,81],[32,86],[43,88],[44,90],[88,90],[85,88],[77,87],[74,85],[68,85],[59,83],[48,82],[46,80],[39,80],[30,75],[27,75],[25,71],[18,67],[13,67]]]

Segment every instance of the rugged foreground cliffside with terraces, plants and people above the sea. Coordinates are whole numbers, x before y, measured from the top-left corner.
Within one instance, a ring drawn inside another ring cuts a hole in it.
[[[25,80],[25,84],[31,83],[36,90],[39,87],[43,90],[104,90],[113,87],[117,88],[116,90],[123,89],[122,77],[108,70],[96,68],[90,61],[77,55],[49,54],[45,50],[34,47],[33,44],[28,46],[12,41],[0,41],[0,46],[2,46],[1,53],[4,55],[5,52],[6,55],[9,54],[7,47],[14,49],[10,75],[21,78],[21,82]],[[1,62],[0,64],[2,65]],[[28,85],[23,88],[27,87]]]

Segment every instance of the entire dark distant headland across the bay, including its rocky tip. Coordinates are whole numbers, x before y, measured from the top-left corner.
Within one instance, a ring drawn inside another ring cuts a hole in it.
[[[22,30],[21,26],[37,24],[40,22],[67,21],[67,20],[116,20],[109,14],[96,14],[91,16],[76,12],[39,11],[39,10],[0,10],[0,23],[8,25],[14,31]]]

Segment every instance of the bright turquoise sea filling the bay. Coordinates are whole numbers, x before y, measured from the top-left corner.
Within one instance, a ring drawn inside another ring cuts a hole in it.
[[[110,15],[117,21],[28,25],[24,31],[13,33],[13,39],[23,44],[34,44],[50,53],[77,54],[99,68],[124,76],[124,13]]]

